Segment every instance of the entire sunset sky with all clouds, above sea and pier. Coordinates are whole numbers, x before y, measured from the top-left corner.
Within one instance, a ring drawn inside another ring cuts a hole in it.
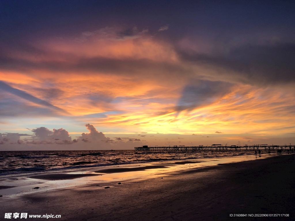
[[[295,143],[294,1],[1,1],[0,150]]]

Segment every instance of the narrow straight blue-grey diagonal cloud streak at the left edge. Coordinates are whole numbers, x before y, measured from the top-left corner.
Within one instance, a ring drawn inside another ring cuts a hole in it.
[[[46,106],[46,107],[49,107],[51,109],[54,109],[54,110],[69,114],[67,111],[65,111],[65,110],[63,110],[61,108],[58,108],[58,107],[48,103],[45,100],[36,98],[36,97],[34,97],[34,96],[32,96],[32,95],[30,95],[30,94],[28,94],[28,93],[26,93],[26,92],[24,92],[22,90],[13,88],[13,87],[9,86],[8,84],[4,83],[3,81],[0,81],[0,89],[4,90],[4,91],[7,91],[9,93],[12,93],[14,95],[17,95],[18,97],[23,98],[25,100],[28,100],[30,102],[33,102],[35,104]]]

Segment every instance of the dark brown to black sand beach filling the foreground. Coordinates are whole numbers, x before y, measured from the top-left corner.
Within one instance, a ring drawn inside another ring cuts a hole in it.
[[[5,212],[28,212],[81,221],[295,220],[295,155],[188,169],[122,184],[109,181],[4,196],[0,202],[1,218]],[[230,217],[240,213],[289,217]]]

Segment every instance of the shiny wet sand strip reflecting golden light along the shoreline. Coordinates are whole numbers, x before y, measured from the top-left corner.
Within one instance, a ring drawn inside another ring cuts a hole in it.
[[[270,157],[263,154],[262,158]],[[118,166],[97,167],[98,170],[68,169],[64,171],[34,172],[18,175],[1,176],[0,185],[14,186],[9,189],[0,189],[0,194],[26,194],[32,191],[34,185],[42,187],[38,191],[62,189],[65,187],[80,186],[99,182],[124,182],[126,180],[143,180],[157,177],[171,176],[175,173],[191,173],[204,170],[208,167],[218,166],[240,161],[255,160],[257,156],[235,156],[221,158],[207,158],[202,161],[165,161],[145,164],[126,164]]]

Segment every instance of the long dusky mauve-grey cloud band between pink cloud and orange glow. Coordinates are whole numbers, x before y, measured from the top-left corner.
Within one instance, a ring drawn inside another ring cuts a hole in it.
[[[46,53],[48,56],[55,56]],[[57,57],[60,57],[59,52],[56,53]],[[7,56],[7,55],[5,55]],[[35,56],[33,53],[31,56]],[[119,75],[127,75],[132,77],[138,77],[140,73],[141,77],[152,75],[157,78],[165,79],[167,74],[178,75],[193,75],[191,67],[186,67],[183,64],[176,64],[171,62],[153,61],[149,59],[132,59],[132,58],[106,58],[106,57],[92,57],[92,58],[79,58],[76,62],[72,62],[71,55],[64,55],[63,61],[28,61],[22,58],[6,59],[0,57],[0,70],[22,71],[35,69],[47,70],[52,72],[85,72],[92,73],[112,73]],[[164,75],[164,76],[163,76]],[[109,99],[109,98],[107,98]],[[48,102],[47,102],[48,103]]]

